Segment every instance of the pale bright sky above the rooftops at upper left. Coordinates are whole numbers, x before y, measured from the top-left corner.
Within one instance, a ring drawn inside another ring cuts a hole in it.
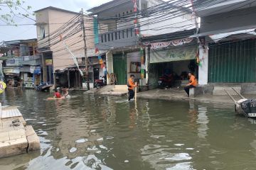
[[[25,4],[23,6],[31,6],[31,13],[41,8],[48,6],[54,6],[57,8],[63,8],[69,11],[79,12],[81,8],[86,11],[94,6],[99,6],[111,0],[23,0]],[[9,11],[0,11],[6,13]],[[31,18],[35,18],[31,16]],[[16,24],[35,23],[28,18],[16,18]],[[3,24],[0,22],[0,24]],[[0,42],[8,40],[26,40],[30,38],[36,38],[36,26],[0,26]]]

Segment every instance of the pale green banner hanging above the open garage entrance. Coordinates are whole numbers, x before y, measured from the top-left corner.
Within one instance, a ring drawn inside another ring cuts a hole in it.
[[[176,47],[168,50],[151,50],[150,63],[193,60],[198,47]]]

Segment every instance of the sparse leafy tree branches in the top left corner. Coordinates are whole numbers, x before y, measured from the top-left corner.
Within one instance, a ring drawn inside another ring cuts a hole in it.
[[[21,0],[0,0],[0,21],[6,24],[15,24],[14,18],[28,18],[31,6],[25,6]],[[33,14],[31,14],[33,15]]]

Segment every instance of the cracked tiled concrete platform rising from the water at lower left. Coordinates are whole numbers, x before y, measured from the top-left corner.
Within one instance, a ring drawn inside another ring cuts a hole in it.
[[[26,125],[18,108],[2,108],[0,115],[0,158],[41,149],[36,132]]]

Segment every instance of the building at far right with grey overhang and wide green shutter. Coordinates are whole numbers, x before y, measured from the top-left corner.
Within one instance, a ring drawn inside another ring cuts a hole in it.
[[[256,2],[193,0],[201,17],[199,84],[256,83]],[[256,89],[255,89],[256,91]]]

